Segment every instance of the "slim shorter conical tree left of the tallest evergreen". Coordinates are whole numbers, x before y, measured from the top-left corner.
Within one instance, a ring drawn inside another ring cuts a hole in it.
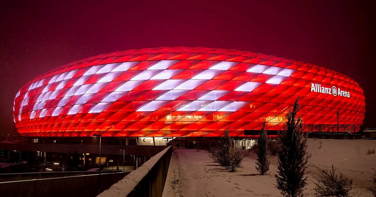
[[[270,162],[267,158],[268,154],[268,136],[267,131],[265,130],[266,122],[261,127],[260,137],[257,139],[257,160],[256,160],[256,170],[261,174],[264,175],[269,171]]]

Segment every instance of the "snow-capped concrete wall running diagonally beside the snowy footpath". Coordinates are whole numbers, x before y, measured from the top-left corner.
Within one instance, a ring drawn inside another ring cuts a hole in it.
[[[167,178],[171,154],[172,146],[169,146],[98,196],[161,197]]]

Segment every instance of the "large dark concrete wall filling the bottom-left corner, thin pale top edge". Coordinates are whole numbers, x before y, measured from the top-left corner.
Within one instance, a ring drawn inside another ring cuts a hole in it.
[[[108,189],[129,172],[100,175],[100,191]],[[1,197],[73,197],[98,195],[98,174],[49,179],[0,182]]]

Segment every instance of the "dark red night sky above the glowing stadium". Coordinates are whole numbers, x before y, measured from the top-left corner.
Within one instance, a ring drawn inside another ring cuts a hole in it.
[[[252,51],[341,72],[364,90],[364,127],[376,127],[374,4],[107,2],[0,3],[0,132],[17,133],[13,99],[36,75],[88,56],[164,46]]]

